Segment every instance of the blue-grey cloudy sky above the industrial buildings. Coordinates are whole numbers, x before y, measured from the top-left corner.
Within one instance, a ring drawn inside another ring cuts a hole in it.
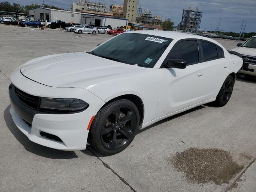
[[[10,3],[42,4],[43,0],[0,0]],[[123,0],[89,0],[102,2],[108,7],[110,4],[123,4]],[[76,0],[44,0],[44,4],[58,6],[70,10],[72,2]],[[82,0],[84,2],[84,0]],[[219,18],[220,29],[224,32],[240,33],[242,22],[247,21],[245,32],[256,32],[256,0],[139,0],[142,10],[151,10],[153,16],[160,15],[163,19],[170,18],[177,26],[182,18],[183,8],[199,8],[202,14],[200,29],[216,30]]]

